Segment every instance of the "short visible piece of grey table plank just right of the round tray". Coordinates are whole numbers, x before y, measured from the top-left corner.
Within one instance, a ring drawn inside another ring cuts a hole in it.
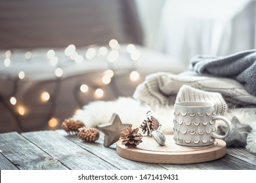
[[[252,165],[256,165],[256,156],[249,153],[245,148],[227,148],[227,154]]]

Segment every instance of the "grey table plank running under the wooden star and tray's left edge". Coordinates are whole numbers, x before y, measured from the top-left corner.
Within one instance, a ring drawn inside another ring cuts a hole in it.
[[[82,148],[88,150],[89,152],[95,154],[101,159],[105,159],[108,163],[111,163],[118,169],[164,169],[160,165],[153,163],[141,163],[137,161],[131,161],[129,159],[121,158],[116,153],[116,148],[114,144],[110,148],[106,148],[103,145],[104,134],[100,133],[100,139],[94,143],[83,142],[76,135],[67,135],[63,130],[57,130],[56,132],[63,135],[75,144],[81,146]],[[113,148],[114,147],[114,148]]]

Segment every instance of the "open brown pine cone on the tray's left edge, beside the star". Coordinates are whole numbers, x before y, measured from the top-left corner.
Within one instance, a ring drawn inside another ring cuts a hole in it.
[[[131,125],[127,126],[125,130],[121,131],[120,139],[123,140],[122,144],[128,148],[135,148],[142,142],[142,135],[138,133],[139,128],[132,129]]]

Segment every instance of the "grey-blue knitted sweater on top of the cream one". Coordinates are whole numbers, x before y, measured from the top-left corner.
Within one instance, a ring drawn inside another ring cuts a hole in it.
[[[200,74],[233,78],[256,96],[256,50],[245,50],[223,57],[196,56],[190,70]]]

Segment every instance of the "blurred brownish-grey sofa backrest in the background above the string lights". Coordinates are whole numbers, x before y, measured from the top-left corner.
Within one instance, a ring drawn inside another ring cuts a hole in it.
[[[142,44],[134,1],[0,1],[0,48]]]

